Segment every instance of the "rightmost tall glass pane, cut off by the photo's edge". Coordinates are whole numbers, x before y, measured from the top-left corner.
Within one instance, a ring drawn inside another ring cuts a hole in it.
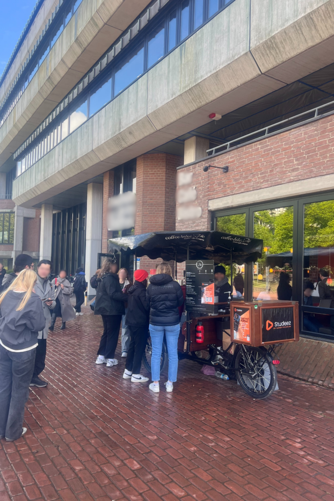
[[[330,336],[334,334],[333,221],[334,200],[304,205],[303,330]],[[321,314],[314,307],[321,308]]]

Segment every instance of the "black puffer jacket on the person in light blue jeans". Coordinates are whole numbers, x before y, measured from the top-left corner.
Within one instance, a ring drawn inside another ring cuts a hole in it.
[[[150,278],[146,291],[150,308],[150,324],[177,325],[180,322],[178,307],[183,305],[181,286],[170,275],[163,273]]]

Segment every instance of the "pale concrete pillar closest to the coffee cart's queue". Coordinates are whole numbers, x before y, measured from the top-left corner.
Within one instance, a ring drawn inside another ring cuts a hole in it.
[[[96,295],[96,290],[89,283],[96,272],[98,254],[102,246],[102,206],[103,185],[89,183],[87,186],[87,215],[86,215],[86,262],[85,275],[88,282],[88,299]]]

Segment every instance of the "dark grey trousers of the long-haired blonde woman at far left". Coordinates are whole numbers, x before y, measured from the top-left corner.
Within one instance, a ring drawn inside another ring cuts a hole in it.
[[[0,346],[0,436],[11,440],[22,435],[35,353],[36,348],[15,353]]]

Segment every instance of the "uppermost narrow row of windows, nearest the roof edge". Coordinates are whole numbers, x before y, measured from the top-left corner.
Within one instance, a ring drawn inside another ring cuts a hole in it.
[[[60,15],[60,19],[57,21],[55,28],[52,31],[50,31],[50,35],[49,34],[46,35],[45,42],[42,42],[43,48],[39,51],[41,55],[34,58],[30,62],[29,71],[27,71],[25,76],[22,78],[18,88],[13,91],[12,93],[13,95],[11,96],[9,103],[2,111],[2,115],[0,118],[0,127],[3,125],[8,115],[11,113],[14,106],[19,101],[20,97],[26,90],[29,82],[31,82],[31,80],[33,79],[35,73],[37,72],[37,70],[39,69],[39,67],[41,66],[47,55],[49,54],[51,48],[55,45],[57,39],[60,37],[60,34],[64,30],[65,26],[69,23],[70,19],[78,9],[81,2],[82,0],[73,0],[73,2],[70,2],[69,5],[66,7],[65,11],[63,12],[63,14]]]

